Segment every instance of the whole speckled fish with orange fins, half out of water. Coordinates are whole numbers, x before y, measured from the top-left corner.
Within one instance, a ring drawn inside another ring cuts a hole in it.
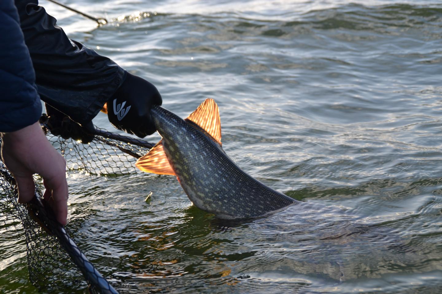
[[[221,119],[206,99],[186,119],[154,105],[152,120],[161,140],[135,166],[158,175],[175,175],[193,205],[221,219],[266,216],[303,203],[243,171],[221,144]]]

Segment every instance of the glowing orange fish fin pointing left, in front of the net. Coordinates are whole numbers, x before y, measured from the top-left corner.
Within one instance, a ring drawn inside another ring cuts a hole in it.
[[[145,156],[138,158],[135,166],[141,171],[158,175],[175,175],[175,171],[173,171],[166,153],[164,153],[163,140],[156,143]]]

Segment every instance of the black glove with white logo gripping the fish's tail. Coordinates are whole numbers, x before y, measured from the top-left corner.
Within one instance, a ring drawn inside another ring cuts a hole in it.
[[[163,99],[155,86],[127,73],[122,85],[107,101],[107,117],[118,130],[144,138],[155,132],[150,108],[162,103]]]

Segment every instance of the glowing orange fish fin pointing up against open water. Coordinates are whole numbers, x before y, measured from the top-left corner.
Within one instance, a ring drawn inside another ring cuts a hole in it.
[[[215,100],[207,98],[186,120],[197,124],[221,145],[220,111]]]

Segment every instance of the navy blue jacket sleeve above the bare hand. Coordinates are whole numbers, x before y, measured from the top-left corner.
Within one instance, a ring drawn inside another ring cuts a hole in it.
[[[0,0],[0,27],[0,132],[13,132],[38,121],[42,103],[12,0]]]

